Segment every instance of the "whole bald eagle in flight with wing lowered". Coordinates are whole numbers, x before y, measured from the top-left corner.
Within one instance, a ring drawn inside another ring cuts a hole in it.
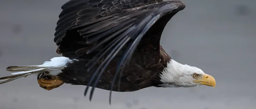
[[[0,84],[38,75],[40,87],[85,85],[132,92],[146,87],[215,87],[201,69],[173,60],[160,45],[167,22],[185,4],[178,0],[70,0],[61,6],[54,42],[58,54],[41,65],[10,66],[19,71]]]

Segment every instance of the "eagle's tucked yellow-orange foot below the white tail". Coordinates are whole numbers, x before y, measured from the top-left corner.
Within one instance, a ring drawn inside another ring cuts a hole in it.
[[[41,73],[38,75],[38,84],[44,89],[51,90],[60,87],[62,84],[64,84],[64,81],[57,76],[44,75],[44,73]]]

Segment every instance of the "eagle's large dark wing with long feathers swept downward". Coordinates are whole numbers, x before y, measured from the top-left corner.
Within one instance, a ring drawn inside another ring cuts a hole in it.
[[[100,75],[111,60],[118,53],[122,54],[116,64],[114,82],[119,70],[129,63],[137,45],[155,23],[160,23],[157,24],[159,27],[150,32],[157,34],[150,38],[157,42],[153,46],[158,48],[159,53],[160,36],[166,23],[185,5],[178,0],[70,0],[61,8],[63,11],[59,15],[54,39],[58,45],[56,52],[70,59],[95,54],[87,63],[88,70],[99,60],[102,61],[87,85],[88,89],[96,73],[99,73],[93,83],[91,99]]]

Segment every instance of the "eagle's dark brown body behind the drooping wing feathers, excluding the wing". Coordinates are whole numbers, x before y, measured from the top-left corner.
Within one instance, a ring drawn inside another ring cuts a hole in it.
[[[162,84],[159,81],[159,73],[163,70],[163,67],[166,67],[167,61],[170,60],[170,57],[166,55],[166,52],[162,47],[160,51],[160,59],[157,59],[158,61],[155,61],[151,64],[147,64],[144,61],[145,59],[143,58],[146,58],[143,57],[144,55],[141,56],[135,52],[134,54],[137,55],[134,55],[131,58],[130,64],[124,67],[121,77],[120,90],[118,90],[117,79],[113,86],[113,91],[131,92]],[[107,70],[102,74],[96,86],[97,88],[107,90],[110,89],[110,84],[116,73],[116,60],[118,60],[118,58],[113,59],[113,62],[110,63]],[[93,68],[92,71],[88,72],[87,67],[84,67],[87,61],[87,59],[81,59],[80,61],[75,61],[72,64],[68,64],[67,68],[62,70],[63,72],[58,76],[61,77],[61,80],[67,84],[87,85],[95,69],[99,66],[99,64],[97,64],[97,66]]]

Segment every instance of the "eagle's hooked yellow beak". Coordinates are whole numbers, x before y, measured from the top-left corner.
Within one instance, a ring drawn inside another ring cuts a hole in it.
[[[199,83],[201,85],[207,85],[207,86],[211,86],[211,87],[215,87],[215,79],[208,74],[204,74],[203,76],[201,76],[200,78],[198,78],[198,80],[194,81],[195,83]]]

